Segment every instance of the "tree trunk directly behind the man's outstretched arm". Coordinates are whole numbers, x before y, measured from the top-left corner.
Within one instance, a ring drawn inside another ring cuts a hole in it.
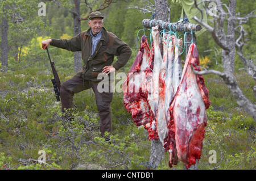
[[[73,14],[73,32],[74,36],[81,32],[81,23],[80,23],[80,1],[74,1],[74,14]],[[74,52],[74,71],[81,70],[81,52]]]

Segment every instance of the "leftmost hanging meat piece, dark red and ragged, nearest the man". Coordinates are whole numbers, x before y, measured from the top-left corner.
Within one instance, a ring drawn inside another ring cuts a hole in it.
[[[148,47],[146,36],[143,35],[139,52],[123,83],[122,90],[123,103],[127,111],[131,113],[135,125],[144,125],[148,132],[150,132],[149,124],[154,116],[147,102],[147,83],[149,82],[147,82],[147,76],[150,77],[150,70],[147,69],[148,60],[150,60],[150,48]]]

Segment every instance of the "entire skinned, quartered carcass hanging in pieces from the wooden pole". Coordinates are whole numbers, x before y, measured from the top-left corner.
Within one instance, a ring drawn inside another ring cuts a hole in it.
[[[160,52],[162,39],[163,56]],[[133,66],[123,83],[123,100],[137,126],[144,125],[149,139],[158,139],[170,153],[169,165],[178,161],[189,168],[200,159],[204,129],[207,125],[205,110],[210,106],[208,89],[200,71],[199,55],[191,44],[181,66],[182,39],[162,33],[152,27],[151,50],[146,36]]]

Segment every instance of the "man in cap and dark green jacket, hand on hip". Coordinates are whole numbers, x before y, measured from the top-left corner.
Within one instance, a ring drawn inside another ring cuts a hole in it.
[[[104,16],[101,12],[92,12],[89,16],[90,28],[88,30],[82,31],[69,40],[48,39],[42,41],[43,49],[46,49],[48,45],[53,45],[72,52],[81,51],[84,62],[82,70],[75,77],[65,81],[60,87],[61,107],[63,112],[72,110],[74,108],[74,94],[92,87],[100,116],[102,136],[105,132],[112,132],[110,104],[113,92],[110,84],[103,84],[103,86],[108,87],[100,86],[98,89],[98,83],[106,77],[110,78],[110,73],[114,73],[115,70],[125,66],[131,56],[129,45],[113,33],[106,31],[103,27],[103,19]],[[118,60],[112,65],[114,56],[118,56]],[[102,89],[105,91],[102,92]]]

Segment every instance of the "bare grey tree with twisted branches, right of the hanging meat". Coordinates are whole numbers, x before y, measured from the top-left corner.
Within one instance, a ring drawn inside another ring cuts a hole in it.
[[[229,5],[222,3],[221,0],[205,0],[199,3],[196,3],[195,0],[195,6],[201,12],[203,12],[203,10],[200,9],[198,5],[202,2],[212,2],[216,6],[215,14],[212,12],[212,10],[208,9],[208,7],[204,7],[207,14],[213,17],[212,26],[204,23],[203,19],[198,19],[196,16],[194,16],[193,19],[195,19],[197,23],[204,26],[211,33],[213,40],[221,48],[221,60],[224,67],[224,72],[217,70],[195,72],[202,75],[211,73],[219,75],[224,80],[228,89],[232,92],[234,98],[236,98],[237,104],[256,121],[256,104],[246,98],[234,79],[234,58],[237,52],[243,64],[252,71],[254,81],[256,81],[256,66],[253,64],[253,62],[245,58],[242,51],[242,47],[245,44],[244,36],[246,34],[246,31],[243,29],[243,24],[247,23],[249,18],[256,17],[254,14],[256,10],[250,12],[250,14],[247,14],[246,16],[241,17],[236,16],[236,0],[229,0]],[[225,24],[227,24],[226,27]],[[238,37],[235,36],[235,32],[238,33]],[[254,95],[256,95],[256,86],[253,87],[253,91]]]

